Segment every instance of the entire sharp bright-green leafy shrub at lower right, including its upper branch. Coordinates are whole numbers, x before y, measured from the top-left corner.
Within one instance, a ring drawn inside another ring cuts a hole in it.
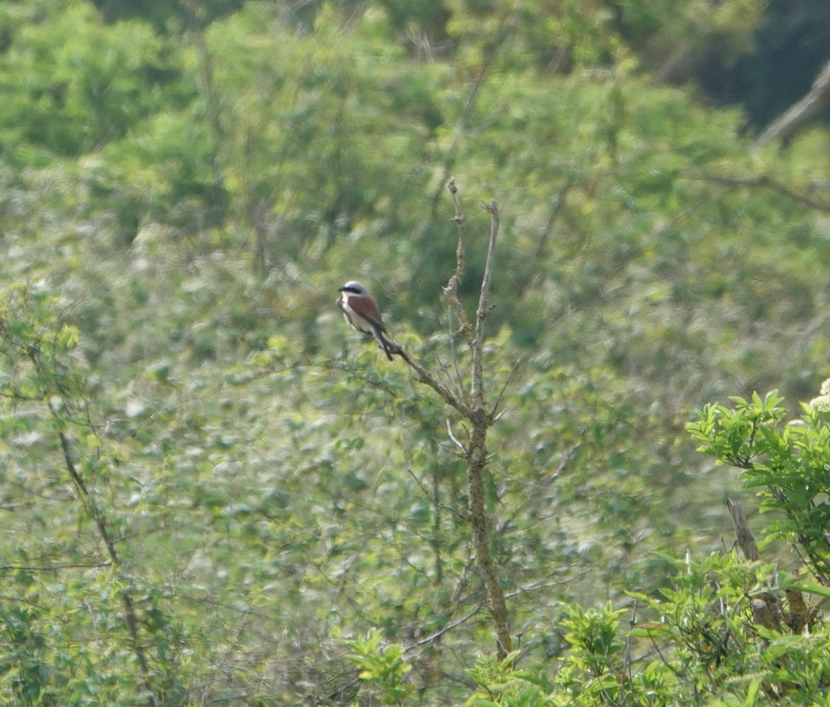
[[[821,505],[815,496],[798,491],[826,498],[828,387],[793,422],[786,422],[777,393],[769,393],[734,397],[732,409],[706,406],[687,426],[703,442],[700,451],[743,469],[745,486],[758,490],[766,510],[784,515],[767,523],[769,534],[801,544],[809,576],[820,583],[736,553],[662,553],[670,581],[656,594],[627,592],[634,603],[622,609],[569,609],[559,625],[570,648],[552,676],[481,661],[471,670],[479,690],[467,705],[767,704],[762,695],[785,705],[823,704],[830,634],[817,616],[830,597],[821,544],[826,520],[813,512]],[[810,604],[803,592],[822,598]],[[626,615],[629,630],[619,626]]]

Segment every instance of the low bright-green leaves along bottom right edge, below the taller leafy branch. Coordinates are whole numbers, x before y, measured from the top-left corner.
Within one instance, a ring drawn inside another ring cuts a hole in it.
[[[766,704],[762,692],[780,704],[823,704],[826,629],[793,633],[794,605],[777,628],[750,611],[759,597],[793,586],[785,573],[734,553],[664,559],[671,586],[659,597],[630,592],[633,607],[572,610],[562,622],[571,647],[554,670],[481,661],[471,670],[480,689],[466,704],[756,705]],[[643,621],[640,613],[654,618]],[[619,625],[626,615],[628,630]]]

